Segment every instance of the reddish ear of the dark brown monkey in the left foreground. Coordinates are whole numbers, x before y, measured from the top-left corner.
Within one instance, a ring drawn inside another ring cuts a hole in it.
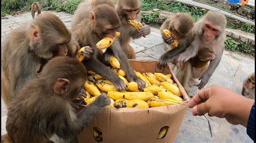
[[[69,90],[70,81],[66,78],[58,78],[54,86],[54,92],[58,95],[63,95]]]

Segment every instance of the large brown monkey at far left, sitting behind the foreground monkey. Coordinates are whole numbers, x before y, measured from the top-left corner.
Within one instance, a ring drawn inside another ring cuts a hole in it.
[[[67,54],[70,39],[70,31],[50,12],[38,15],[5,35],[2,42],[1,88],[7,107],[23,85],[36,76],[36,68],[41,59],[50,60],[59,51],[63,52],[59,54]]]

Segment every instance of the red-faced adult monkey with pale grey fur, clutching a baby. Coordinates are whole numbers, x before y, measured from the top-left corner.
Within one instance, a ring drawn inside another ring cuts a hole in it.
[[[175,61],[176,65],[188,61],[197,55],[202,48],[211,48],[215,53],[215,59],[211,60],[209,67],[199,78],[198,89],[204,88],[214,70],[219,65],[224,51],[224,42],[226,39],[225,26],[226,18],[223,14],[214,11],[208,11],[206,15],[199,19],[193,27],[194,39],[185,52],[179,54]],[[184,72],[184,71],[182,71]]]

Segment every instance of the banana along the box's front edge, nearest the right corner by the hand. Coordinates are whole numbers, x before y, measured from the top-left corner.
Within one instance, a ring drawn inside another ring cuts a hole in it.
[[[150,107],[158,107],[158,106],[166,106],[166,105],[175,105],[178,104],[177,101],[173,101],[172,99],[159,99],[159,98],[151,98],[147,101],[147,104]]]

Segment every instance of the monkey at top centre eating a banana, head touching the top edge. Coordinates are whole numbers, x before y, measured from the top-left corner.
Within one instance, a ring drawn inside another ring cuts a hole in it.
[[[117,3],[117,13],[121,20],[121,26],[118,32],[121,33],[120,45],[128,59],[135,59],[135,52],[130,44],[131,38],[138,39],[142,35],[150,34],[150,26],[144,25],[137,31],[127,20],[137,19],[140,22],[140,6],[139,0],[119,0]]]

